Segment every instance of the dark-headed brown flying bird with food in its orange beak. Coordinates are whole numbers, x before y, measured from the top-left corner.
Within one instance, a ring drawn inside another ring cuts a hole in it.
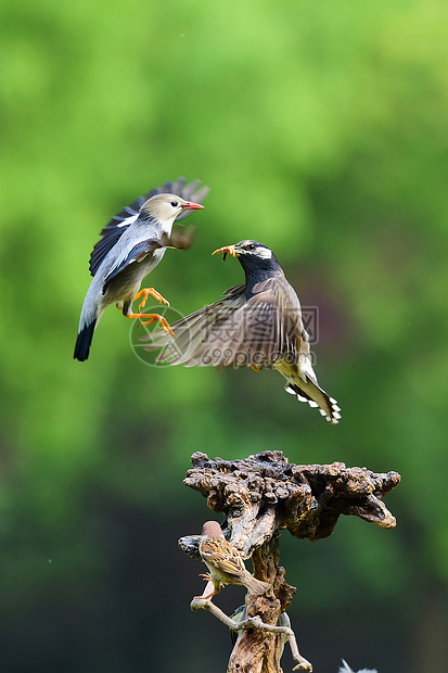
[[[337,423],[341,409],[319,386],[312,369],[300,302],[272,251],[245,240],[213,254],[218,253],[223,259],[238,257],[245,284],[230,288],[223,299],[175,322],[176,341],[159,330],[145,335],[142,341],[152,342],[145,348],[167,346],[157,361],[185,367],[277,369],[286,379],[286,392]]]

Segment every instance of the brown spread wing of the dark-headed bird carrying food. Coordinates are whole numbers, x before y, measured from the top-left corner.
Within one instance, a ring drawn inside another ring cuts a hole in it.
[[[300,305],[286,280],[268,279],[253,288],[246,302],[245,287],[232,288],[226,297],[172,325],[176,339],[158,332],[148,350],[168,344],[158,361],[187,367],[271,367],[279,358],[298,363],[309,353]]]

